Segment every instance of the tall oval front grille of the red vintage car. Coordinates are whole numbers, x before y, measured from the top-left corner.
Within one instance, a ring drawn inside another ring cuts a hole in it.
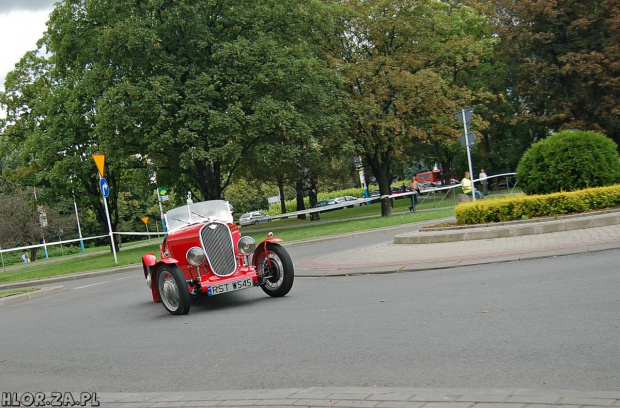
[[[217,222],[208,223],[200,230],[200,239],[213,273],[218,276],[232,275],[237,263],[228,226]]]

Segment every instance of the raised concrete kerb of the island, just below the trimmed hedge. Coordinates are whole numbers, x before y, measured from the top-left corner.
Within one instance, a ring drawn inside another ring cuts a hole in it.
[[[420,228],[413,232],[396,235],[394,237],[394,243],[434,244],[478,239],[508,238],[603,227],[615,224],[620,224],[620,210],[466,227]]]

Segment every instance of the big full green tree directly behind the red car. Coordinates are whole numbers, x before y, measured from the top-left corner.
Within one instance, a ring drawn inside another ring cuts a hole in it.
[[[320,2],[120,3],[99,30],[102,67],[123,67],[101,99],[102,128],[139,145],[158,181],[221,198],[259,143],[316,136],[304,111],[331,81],[303,17]]]

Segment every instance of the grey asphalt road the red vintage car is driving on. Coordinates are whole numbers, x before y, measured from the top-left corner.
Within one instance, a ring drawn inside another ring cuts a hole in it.
[[[138,270],[67,282],[0,311],[0,388],[618,390],[619,264],[613,250],[298,278],[284,298],[249,289],[187,316],[152,303]]]

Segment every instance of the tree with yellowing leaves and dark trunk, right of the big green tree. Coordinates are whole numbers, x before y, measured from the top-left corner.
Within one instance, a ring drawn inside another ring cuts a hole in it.
[[[473,9],[434,0],[348,0],[340,60],[348,80],[352,138],[382,196],[391,165],[413,143],[456,139],[454,111],[480,98],[460,76],[480,64],[493,39]],[[391,214],[382,200],[383,216]]]

